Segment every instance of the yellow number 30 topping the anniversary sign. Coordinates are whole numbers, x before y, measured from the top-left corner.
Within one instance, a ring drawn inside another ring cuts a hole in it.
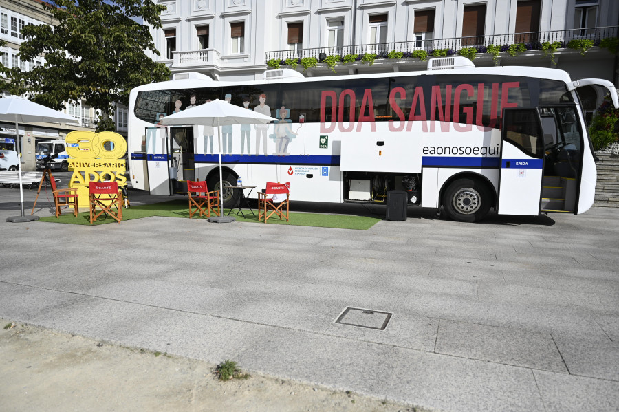
[[[72,131],[65,139],[67,155],[76,159],[120,159],[127,153],[127,142],[113,131]],[[109,142],[111,144],[106,145]],[[71,146],[77,144],[77,146]],[[106,149],[111,147],[113,149]]]

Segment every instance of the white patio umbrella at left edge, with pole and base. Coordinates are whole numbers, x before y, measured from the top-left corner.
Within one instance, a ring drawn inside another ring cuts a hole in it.
[[[21,186],[21,144],[19,142],[19,123],[79,123],[79,121],[73,116],[50,109],[38,103],[31,102],[24,98],[8,97],[0,98],[0,120],[3,122],[15,123],[15,140],[17,144],[18,155],[18,174],[19,174],[19,198],[21,200],[21,217],[7,217],[6,221],[23,222],[38,220],[39,216],[24,217],[23,214],[23,188]]]

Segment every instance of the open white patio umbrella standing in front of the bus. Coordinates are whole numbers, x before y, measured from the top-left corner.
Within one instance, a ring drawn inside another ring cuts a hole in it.
[[[217,127],[217,141],[219,142],[219,190],[220,195],[224,191],[224,177],[221,171],[221,126],[228,124],[265,124],[276,121],[276,118],[265,116],[253,110],[248,110],[245,107],[230,105],[226,101],[213,100],[204,105],[185,109],[179,113],[171,114],[161,119],[161,123],[170,125],[198,124],[201,126]],[[222,204],[223,206],[223,204]],[[219,221],[222,219],[223,208],[219,208]]]

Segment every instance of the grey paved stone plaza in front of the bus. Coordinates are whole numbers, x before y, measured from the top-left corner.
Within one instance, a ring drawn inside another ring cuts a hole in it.
[[[619,210],[360,231],[6,223],[17,202],[0,188],[2,318],[442,411],[619,409]]]

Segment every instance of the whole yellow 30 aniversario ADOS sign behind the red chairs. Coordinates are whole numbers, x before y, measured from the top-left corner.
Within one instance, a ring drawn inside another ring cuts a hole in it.
[[[78,188],[79,206],[88,206],[90,182],[118,181],[118,186],[127,186],[127,164],[122,159],[127,142],[122,135],[113,131],[72,131],[65,140],[69,167],[73,168],[69,187]]]

